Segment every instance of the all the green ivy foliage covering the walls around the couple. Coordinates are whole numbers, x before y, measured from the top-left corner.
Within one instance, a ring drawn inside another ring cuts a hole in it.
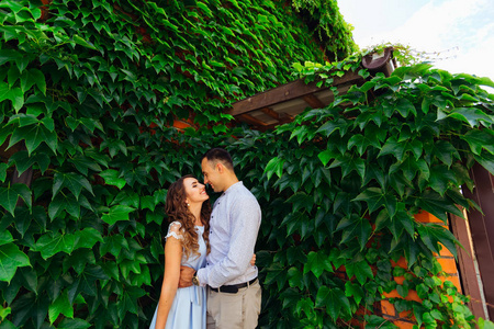
[[[473,324],[431,258],[454,238],[412,215],[446,219],[468,168],[493,172],[492,81],[407,67],[261,133],[224,111],[293,72],[368,77],[361,55],[312,64],[356,50],[336,2],[4,0],[0,23],[0,328],[146,327],[167,188],[211,146],[263,209],[262,327],[392,326],[393,275],[430,299],[394,300],[416,321]]]

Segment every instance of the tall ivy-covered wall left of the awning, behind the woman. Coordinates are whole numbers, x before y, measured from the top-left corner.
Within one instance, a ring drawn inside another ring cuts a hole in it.
[[[148,324],[167,188],[224,143],[224,110],[292,79],[294,61],[355,48],[346,25],[318,32],[315,18],[310,30],[304,8],[0,2],[2,328]],[[177,118],[200,128],[178,133]]]

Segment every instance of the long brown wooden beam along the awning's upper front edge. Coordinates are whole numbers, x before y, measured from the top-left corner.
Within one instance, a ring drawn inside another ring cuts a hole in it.
[[[357,83],[358,81],[363,81],[363,78],[360,77],[357,72],[347,72],[343,77],[334,77],[333,79],[333,84],[330,87],[338,87],[344,83]],[[261,92],[250,98],[238,101],[232,105],[232,109],[227,111],[227,113],[232,114],[233,116],[249,113],[262,107],[269,107],[278,103],[302,98],[317,91],[326,90],[330,87],[317,87],[316,81],[305,84],[303,79],[299,79],[269,91]]]

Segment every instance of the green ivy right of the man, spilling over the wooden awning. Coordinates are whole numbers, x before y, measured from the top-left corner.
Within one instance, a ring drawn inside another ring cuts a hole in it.
[[[259,258],[268,318],[305,328],[395,328],[378,316],[386,300],[417,328],[474,328],[468,297],[442,283],[434,257],[441,248],[456,257],[458,241],[414,215],[427,211],[446,224],[448,213],[462,216],[457,205],[478,207],[459,186],[472,189],[473,162],[494,173],[494,103],[482,89],[494,83],[425,64],[369,77],[358,56],[295,68],[321,84],[343,69],[368,81],[262,139],[272,156],[252,185],[270,191]],[[400,261],[405,265],[392,265]],[[418,300],[405,299],[409,291]]]

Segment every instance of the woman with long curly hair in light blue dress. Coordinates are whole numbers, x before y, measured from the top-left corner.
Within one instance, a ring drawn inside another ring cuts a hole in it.
[[[205,186],[193,175],[182,177],[168,190],[165,211],[170,225],[165,243],[165,275],[150,329],[205,328],[205,288],[178,288],[178,282],[181,264],[194,270],[205,265],[210,250],[209,197]]]

